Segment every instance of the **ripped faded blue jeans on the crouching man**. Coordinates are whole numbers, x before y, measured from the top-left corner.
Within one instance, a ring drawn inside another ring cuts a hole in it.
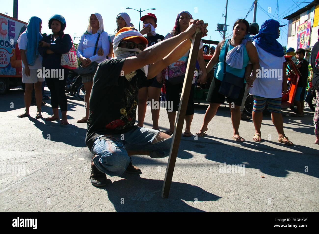
[[[158,130],[139,127],[124,134],[100,135],[91,149],[96,155],[93,162],[99,171],[117,176],[129,166],[127,151],[150,151],[151,158],[165,158],[171,149],[172,136],[151,144],[158,133]]]

